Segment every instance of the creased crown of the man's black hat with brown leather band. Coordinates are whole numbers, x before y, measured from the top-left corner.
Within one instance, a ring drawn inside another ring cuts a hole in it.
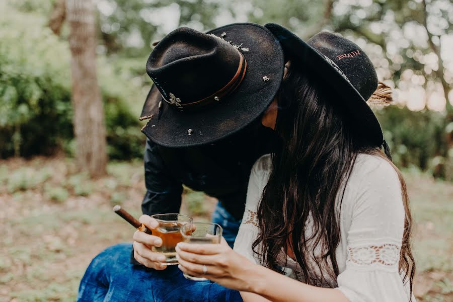
[[[241,53],[230,43],[182,27],[156,45],[146,72],[166,101],[178,99],[184,107],[214,98],[235,77],[240,62]]]

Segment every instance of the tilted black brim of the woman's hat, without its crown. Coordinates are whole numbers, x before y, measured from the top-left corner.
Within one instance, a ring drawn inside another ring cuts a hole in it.
[[[381,146],[384,138],[378,119],[366,100],[326,57],[281,25],[269,23],[265,27],[280,41],[286,60],[294,59],[302,66],[307,66],[323,80],[326,89],[335,92],[333,95],[337,98],[333,101],[341,102],[341,106],[344,106],[347,123],[359,143],[370,147]]]

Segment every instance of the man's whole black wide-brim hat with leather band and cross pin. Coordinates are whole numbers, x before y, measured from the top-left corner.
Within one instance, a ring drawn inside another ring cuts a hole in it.
[[[149,119],[142,132],[159,145],[188,147],[215,142],[261,116],[280,87],[284,55],[261,25],[207,33],[179,28],[159,41],[146,71],[154,85],[140,115]]]

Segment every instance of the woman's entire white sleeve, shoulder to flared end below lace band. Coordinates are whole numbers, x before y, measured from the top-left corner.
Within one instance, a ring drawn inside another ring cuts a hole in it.
[[[356,189],[344,199],[351,224],[344,230],[347,260],[338,289],[351,302],[409,301],[409,284],[398,269],[405,212],[397,174],[382,161],[351,185]]]

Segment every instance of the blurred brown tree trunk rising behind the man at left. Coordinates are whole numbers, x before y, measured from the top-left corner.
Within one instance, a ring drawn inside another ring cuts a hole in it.
[[[96,24],[92,0],[66,0],[71,50],[76,160],[91,177],[106,172],[104,109],[96,77]]]

